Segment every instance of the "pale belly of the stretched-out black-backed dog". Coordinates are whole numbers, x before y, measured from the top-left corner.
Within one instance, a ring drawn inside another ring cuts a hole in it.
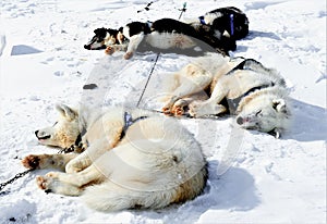
[[[180,48],[187,49],[195,47],[191,37],[175,33],[153,32],[146,36],[146,42],[159,49]]]

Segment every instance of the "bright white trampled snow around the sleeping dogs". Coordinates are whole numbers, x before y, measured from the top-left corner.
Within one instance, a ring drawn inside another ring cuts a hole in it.
[[[242,130],[232,117],[182,120],[209,162],[205,192],[159,211],[100,213],[78,198],[37,188],[35,171],[0,195],[1,223],[326,223],[326,1],[187,0],[182,18],[234,5],[250,20],[235,57],[253,58],[287,79],[293,125],[281,139]],[[57,102],[136,105],[156,54],[105,55],[83,48],[98,27],[131,21],[178,18],[181,1],[2,0],[0,28],[0,183],[24,171],[39,146],[34,130],[55,122]],[[141,107],[162,94],[158,83],[191,57],[160,54]],[[158,82],[159,80],[159,82]],[[98,88],[83,90],[85,84]],[[209,134],[209,135],[208,135]]]

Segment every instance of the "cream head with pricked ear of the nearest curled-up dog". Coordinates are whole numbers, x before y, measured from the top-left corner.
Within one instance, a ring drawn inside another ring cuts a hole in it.
[[[68,148],[80,135],[78,114],[68,105],[58,104],[59,120],[49,127],[38,129],[35,135],[41,145]]]

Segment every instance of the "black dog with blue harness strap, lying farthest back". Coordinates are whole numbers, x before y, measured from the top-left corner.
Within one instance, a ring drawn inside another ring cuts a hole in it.
[[[234,7],[226,7],[213,10],[190,21],[194,27],[208,27],[217,38],[230,36],[235,40],[242,39],[249,34],[249,20],[244,12]]]

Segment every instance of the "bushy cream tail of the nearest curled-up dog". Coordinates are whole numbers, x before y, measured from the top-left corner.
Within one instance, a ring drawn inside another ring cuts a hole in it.
[[[162,208],[168,206],[171,196],[159,197],[162,192],[141,191],[119,186],[112,182],[89,186],[82,195],[82,200],[98,211],[120,211],[124,209]],[[166,194],[170,194],[167,191]],[[162,200],[162,199],[167,200]],[[160,199],[160,200],[159,200]]]

